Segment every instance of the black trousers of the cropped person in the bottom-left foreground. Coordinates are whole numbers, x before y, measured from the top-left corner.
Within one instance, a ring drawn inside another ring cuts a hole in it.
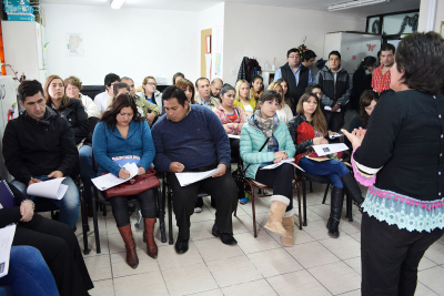
[[[70,226],[34,214],[30,222],[19,223],[12,245],[40,251],[60,295],[89,295],[88,290],[94,287]]]

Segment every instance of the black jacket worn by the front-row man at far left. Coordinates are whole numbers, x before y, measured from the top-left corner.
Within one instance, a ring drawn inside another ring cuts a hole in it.
[[[53,171],[69,175],[79,160],[73,129],[49,106],[39,121],[24,112],[8,122],[2,144],[4,165],[24,184]]]

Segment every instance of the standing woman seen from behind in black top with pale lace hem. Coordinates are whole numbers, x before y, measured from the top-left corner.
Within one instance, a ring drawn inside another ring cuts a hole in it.
[[[414,295],[424,252],[444,234],[444,40],[403,38],[390,88],[352,142],[370,186],[361,224],[362,295]],[[394,112],[396,111],[396,112]]]

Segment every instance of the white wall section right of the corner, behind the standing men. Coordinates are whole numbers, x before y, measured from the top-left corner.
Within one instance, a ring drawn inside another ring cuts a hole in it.
[[[235,83],[243,57],[255,57],[261,67],[276,58],[279,69],[286,62],[286,51],[302,44],[304,37],[316,59],[325,58],[325,33],[365,31],[365,21],[334,12],[225,2],[223,81]]]

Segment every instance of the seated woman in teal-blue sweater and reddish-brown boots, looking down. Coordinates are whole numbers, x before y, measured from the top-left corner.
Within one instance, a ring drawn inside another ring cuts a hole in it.
[[[94,159],[99,164],[98,175],[110,172],[120,178],[128,178],[130,173],[119,164],[133,162],[139,166],[139,175],[150,167],[155,150],[148,123],[140,116],[134,100],[129,94],[118,95],[111,108],[103,113],[95,125],[92,137]],[[130,154],[129,154],[130,153]],[[154,188],[138,195],[142,216],[144,218],[143,239],[147,242],[147,253],[158,257],[158,246],[154,242],[155,192]],[[128,197],[111,197],[112,214],[127,248],[127,263],[137,268],[139,265],[132,237]]]

